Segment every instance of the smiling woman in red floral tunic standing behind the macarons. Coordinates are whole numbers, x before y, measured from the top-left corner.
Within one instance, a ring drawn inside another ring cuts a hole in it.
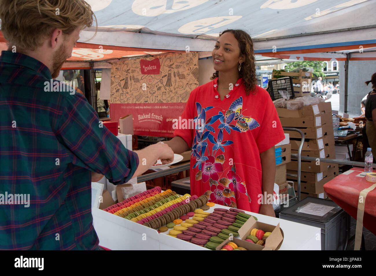
[[[274,145],[285,135],[268,92],[256,83],[251,37],[242,30],[224,31],[212,58],[212,81],[191,92],[182,122],[175,124],[181,127],[165,143],[175,153],[192,146],[192,194],[275,216],[261,194],[273,195]]]

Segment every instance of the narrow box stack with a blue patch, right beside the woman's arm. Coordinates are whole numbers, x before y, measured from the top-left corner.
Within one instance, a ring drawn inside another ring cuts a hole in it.
[[[274,183],[279,186],[279,194],[287,194],[288,183],[286,179],[287,163],[291,161],[290,137],[285,134],[285,139],[274,146],[276,154],[276,177]]]

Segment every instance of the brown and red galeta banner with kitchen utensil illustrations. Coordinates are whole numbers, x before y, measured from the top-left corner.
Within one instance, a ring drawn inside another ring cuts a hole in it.
[[[174,53],[112,64],[110,117],[132,114],[135,135],[172,137],[173,119],[183,113],[199,85],[198,54]]]

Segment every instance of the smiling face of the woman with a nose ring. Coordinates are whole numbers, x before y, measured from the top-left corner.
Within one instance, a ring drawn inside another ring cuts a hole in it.
[[[244,61],[239,55],[240,48],[235,36],[231,32],[224,33],[215,42],[212,51],[214,70],[220,72],[238,70],[239,63]]]

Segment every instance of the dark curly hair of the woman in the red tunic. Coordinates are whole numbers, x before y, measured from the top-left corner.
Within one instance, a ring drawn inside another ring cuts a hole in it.
[[[232,33],[238,41],[238,45],[240,48],[240,54],[244,54],[246,60],[241,63],[241,69],[239,75],[244,80],[244,85],[246,86],[246,95],[249,95],[251,90],[254,90],[257,86],[257,78],[256,78],[256,63],[255,63],[255,53],[253,51],[253,42],[250,35],[243,31],[243,30],[224,30],[220,33],[219,36],[223,35],[224,33],[230,32]],[[215,71],[210,78],[214,80],[218,77],[218,71]]]

